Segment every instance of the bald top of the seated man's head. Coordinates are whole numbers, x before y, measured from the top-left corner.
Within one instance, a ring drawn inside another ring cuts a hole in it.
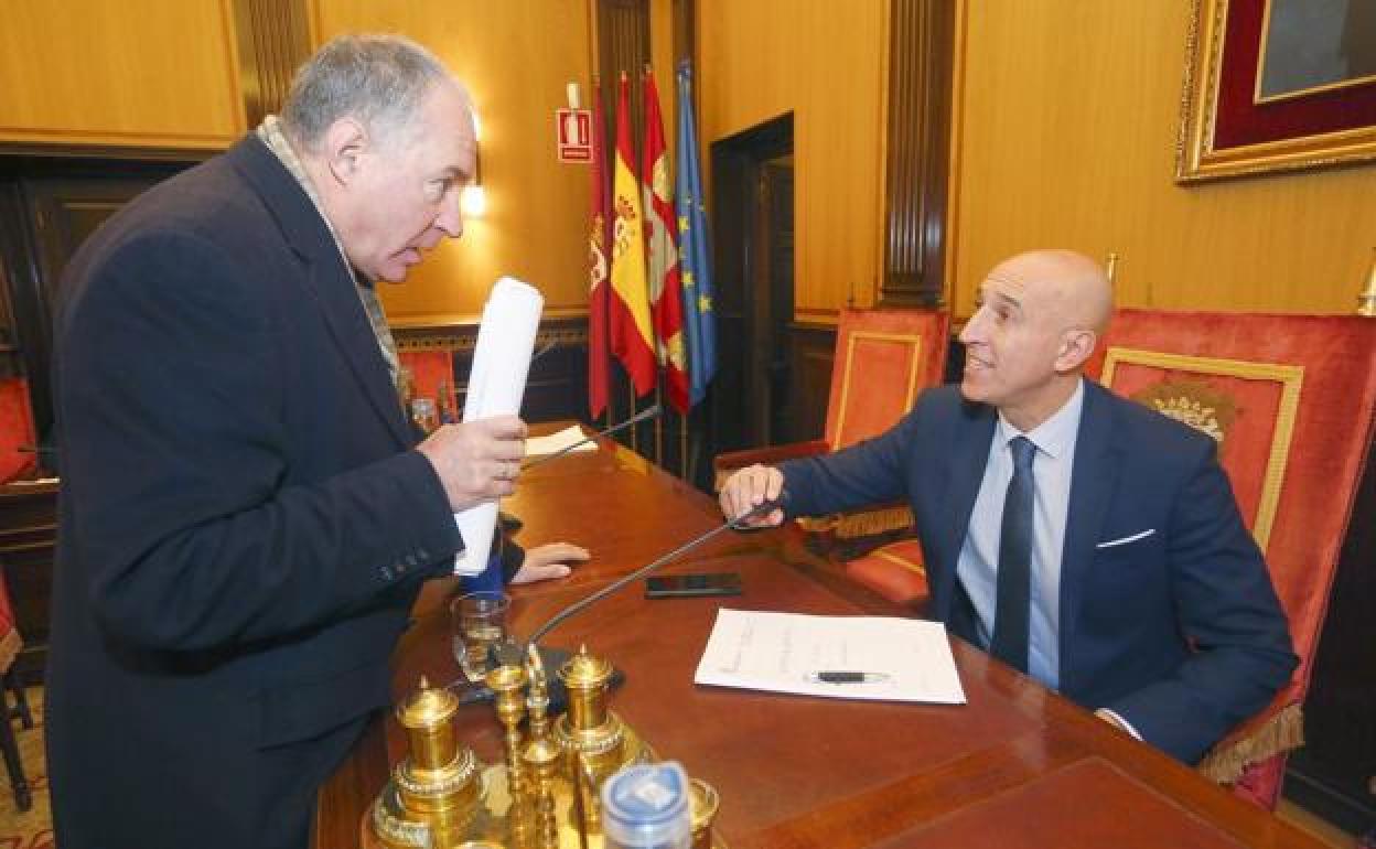
[[[995,266],[988,279],[1017,288],[1062,329],[1104,333],[1113,314],[1113,289],[1104,267],[1075,250],[1028,250]]]

